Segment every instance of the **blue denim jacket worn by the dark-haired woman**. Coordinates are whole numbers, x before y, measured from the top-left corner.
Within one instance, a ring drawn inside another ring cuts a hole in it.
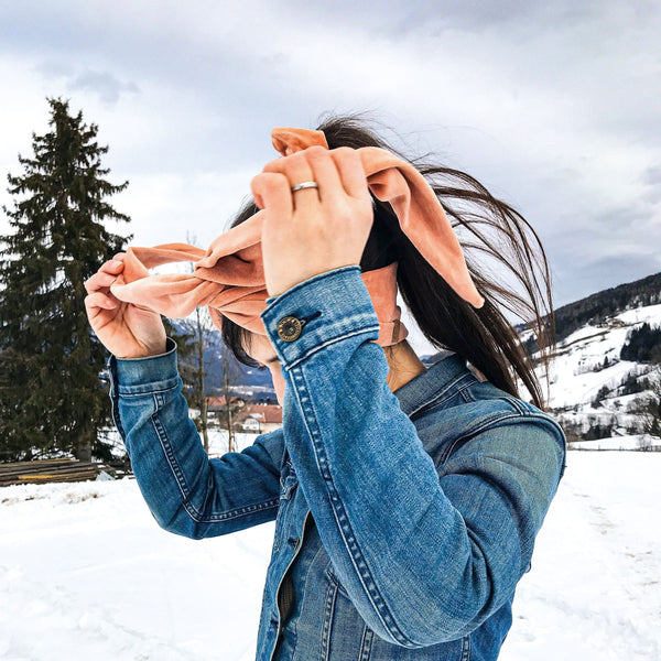
[[[172,339],[110,359],[113,419],[158,523],[202,539],[275,520],[258,661],[496,659],[564,474],[559,424],[449,351],[393,393],[358,266],[268,299],[261,318],[283,426],[220,458],[188,419]]]

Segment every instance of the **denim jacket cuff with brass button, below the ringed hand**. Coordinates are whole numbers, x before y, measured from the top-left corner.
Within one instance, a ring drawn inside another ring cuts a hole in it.
[[[270,296],[260,317],[285,369],[345,337],[379,337],[379,319],[358,264],[319,273]]]

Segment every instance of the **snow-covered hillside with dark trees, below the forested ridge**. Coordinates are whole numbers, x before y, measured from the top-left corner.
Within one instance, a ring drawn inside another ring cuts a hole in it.
[[[647,322],[661,326],[661,305],[649,305],[614,315],[600,326],[586,325],[557,344],[549,372],[550,408],[567,432],[567,440],[588,435],[575,443],[581,448],[638,448],[659,444],[642,429],[636,410],[650,392],[635,384],[657,375],[651,365],[620,360],[628,334]],[[540,379],[544,383],[543,372]],[[633,388],[631,386],[633,384]],[[592,434],[589,433],[592,432]]]

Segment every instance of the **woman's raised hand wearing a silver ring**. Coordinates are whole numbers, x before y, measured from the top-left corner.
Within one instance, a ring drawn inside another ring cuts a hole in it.
[[[310,181],[318,188],[292,193],[292,186]],[[253,177],[251,188],[257,206],[267,212],[261,245],[270,296],[360,263],[373,209],[355,149],[315,145],[281,156]]]

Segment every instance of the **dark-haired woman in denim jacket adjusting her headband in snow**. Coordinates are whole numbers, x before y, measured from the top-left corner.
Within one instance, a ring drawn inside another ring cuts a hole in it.
[[[548,350],[543,250],[475,180],[413,162],[469,234],[462,245],[479,289],[470,305],[393,205],[370,195],[359,150],[397,152],[357,117],[317,130],[328,149],[288,148],[267,164],[232,225],[266,213],[266,334],[229,312],[218,324],[239,360],[271,370],[282,429],[208,459],[160,315],[115,295],[123,253],[86,283],[90,323],[113,354],[116,424],[165,530],[199,539],[275,520],[258,660],[496,659],[565,468],[562,430],[497,307],[532,315]],[[483,277],[487,258],[524,294]],[[394,290],[384,293],[395,267],[403,301],[442,349],[429,368],[393,312]]]

